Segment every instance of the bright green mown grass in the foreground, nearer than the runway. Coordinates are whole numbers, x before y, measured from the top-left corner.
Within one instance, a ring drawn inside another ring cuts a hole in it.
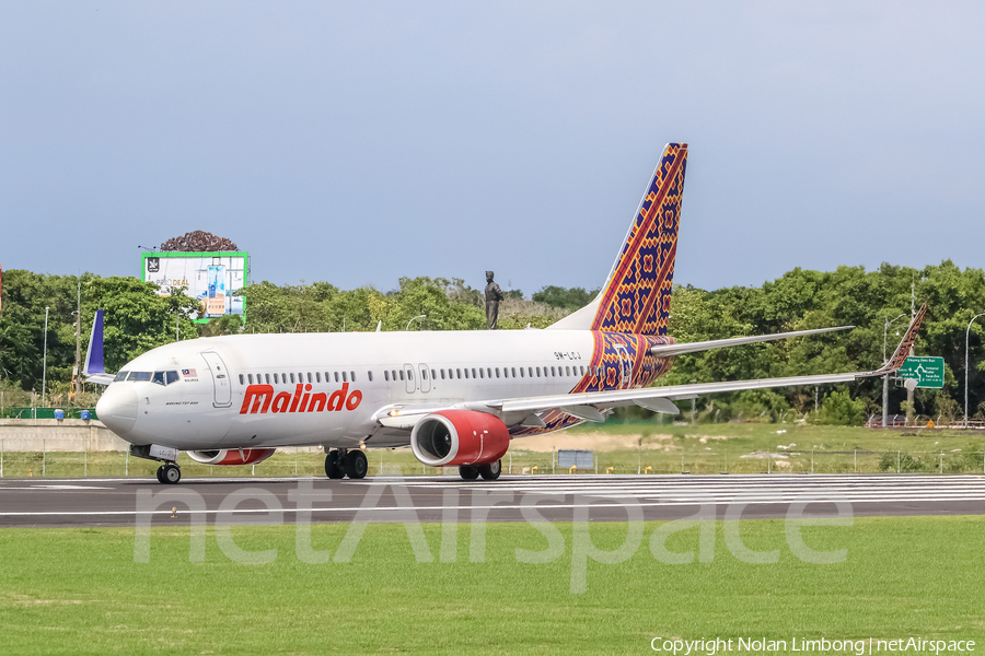
[[[160,523],[159,523],[160,525]],[[589,561],[587,591],[571,594],[571,525],[556,525],[564,554],[518,563],[515,548],[547,541],[528,524],[487,525],[485,562],[439,562],[442,526],[425,525],[434,562],[417,563],[403,525],[371,525],[348,563],[310,565],[293,526],[236,527],[247,550],[277,548],[268,564],[227,559],[209,530],[206,562],[189,563],[188,529],[152,529],[150,562],[136,563],[132,529],[0,531],[2,654],[626,654],[654,636],[868,639],[918,635],[985,645],[982,536],[985,517],[857,518],[803,529],[845,562],[804,563],[779,520],[740,523],[745,544],[779,549],[777,564],[729,553],[717,523],[714,562],[669,565],[648,549]],[[313,527],[315,549],[349,526]],[[591,525],[614,549],[626,525]],[[697,529],[673,534],[673,551],[697,547]]]

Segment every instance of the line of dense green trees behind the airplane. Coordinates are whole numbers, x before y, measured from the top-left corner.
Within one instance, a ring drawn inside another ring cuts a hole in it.
[[[239,316],[195,324],[197,301],[174,292],[158,295],[152,283],[136,278],[93,274],[47,276],[23,270],[3,272],[0,311],[0,388],[8,394],[40,391],[45,308],[48,316],[48,394],[58,400],[69,388],[76,358],[76,315],[81,298],[82,352],[88,347],[92,317],[104,308],[106,368],[176,339],[237,332],[337,332],[382,330],[479,330],[485,327],[480,290],[459,279],[403,278],[398,289],[371,286],[340,290],[328,282],[276,285],[251,284],[241,293],[245,320]],[[545,328],[588,304],[598,290],[546,286],[528,298],[519,290],[506,292],[500,328]],[[945,388],[918,389],[911,410],[925,415],[958,418],[964,401],[964,338],[972,316],[985,312],[985,273],[960,269],[950,260],[923,269],[888,263],[877,270],[838,267],[822,272],[793,269],[761,286],[706,291],[674,288],[670,335],[677,341],[702,341],[748,335],[784,332],[828,326],[854,330],[779,342],[750,344],[682,355],[658,384],[692,380],[809,375],[869,371],[892,353],[905,330],[912,305],[927,303],[928,313],[916,343],[919,355],[945,359]],[[421,317],[424,315],[424,317]],[[900,315],[888,329],[885,323]],[[985,319],[985,317],[983,317]],[[969,372],[970,414],[985,413],[985,379],[976,362],[983,356],[982,325],[971,330]],[[750,390],[705,397],[702,419],[725,421],[753,418],[777,421],[810,413],[830,423],[860,423],[881,411],[882,382],[813,388]],[[14,398],[14,397],[9,397]],[[905,390],[892,387],[890,411],[905,406]],[[8,402],[7,405],[13,405]],[[690,407],[687,408],[690,413]]]

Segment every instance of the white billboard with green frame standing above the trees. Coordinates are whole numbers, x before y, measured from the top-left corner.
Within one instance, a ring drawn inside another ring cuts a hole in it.
[[[140,279],[157,283],[160,295],[169,295],[169,288],[183,286],[198,300],[204,318],[197,321],[243,315],[244,298],[234,294],[246,286],[246,253],[144,253],[142,259]]]

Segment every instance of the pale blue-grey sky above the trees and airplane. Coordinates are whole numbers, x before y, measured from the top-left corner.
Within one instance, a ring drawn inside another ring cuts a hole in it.
[[[985,5],[0,3],[0,266],[600,286],[663,145],[675,282],[983,266]]]

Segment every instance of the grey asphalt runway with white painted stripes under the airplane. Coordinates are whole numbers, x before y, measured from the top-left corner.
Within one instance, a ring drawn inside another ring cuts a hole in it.
[[[985,514],[985,476],[3,479],[0,527]],[[174,517],[172,517],[174,515]]]

